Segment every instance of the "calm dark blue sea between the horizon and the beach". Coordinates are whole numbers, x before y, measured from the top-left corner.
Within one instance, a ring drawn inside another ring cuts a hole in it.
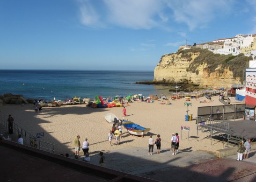
[[[106,70],[0,70],[0,95],[22,94],[25,98],[56,99],[168,93],[168,87],[135,84],[154,79],[153,71]]]

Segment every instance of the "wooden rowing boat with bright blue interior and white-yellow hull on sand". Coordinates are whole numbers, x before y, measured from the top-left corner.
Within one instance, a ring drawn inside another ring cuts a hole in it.
[[[127,120],[123,120],[123,126],[128,133],[139,137],[145,136],[150,130],[150,128],[139,126],[138,124]]]

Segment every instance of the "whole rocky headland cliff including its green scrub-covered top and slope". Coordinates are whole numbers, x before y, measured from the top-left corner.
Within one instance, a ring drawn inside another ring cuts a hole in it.
[[[198,85],[199,88],[241,84],[249,65],[244,55],[219,55],[207,49],[186,49],[166,54],[154,69],[154,83]]]

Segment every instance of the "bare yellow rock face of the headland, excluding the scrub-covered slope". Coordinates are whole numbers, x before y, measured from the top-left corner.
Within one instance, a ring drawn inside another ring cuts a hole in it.
[[[202,51],[186,50],[162,56],[154,69],[154,82],[195,84],[199,88],[226,88],[232,84],[241,84],[240,77],[234,77],[228,65],[223,67],[219,64],[212,68],[211,62],[207,62],[207,57],[202,58],[201,54]],[[200,55],[203,61],[199,62]]]

